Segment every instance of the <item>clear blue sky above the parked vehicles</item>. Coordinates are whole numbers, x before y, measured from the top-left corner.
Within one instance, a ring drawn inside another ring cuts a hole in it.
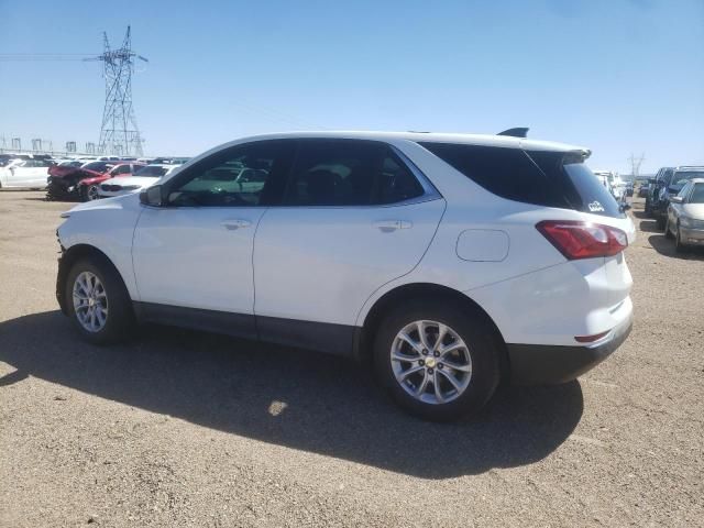
[[[282,130],[493,133],[594,168],[704,163],[704,0],[0,0],[1,53],[97,54],[128,24],[146,151]],[[97,141],[100,63],[0,62],[0,134]]]

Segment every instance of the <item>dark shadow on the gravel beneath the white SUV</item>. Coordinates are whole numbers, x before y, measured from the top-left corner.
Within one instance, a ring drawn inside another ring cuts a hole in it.
[[[572,382],[506,387],[472,421],[431,424],[396,408],[364,369],[340,358],[166,327],[99,348],[82,342],[59,311],[1,322],[0,343],[0,361],[15,369],[0,387],[36,376],[199,426],[426,479],[541,460],[583,413],[580,384]]]

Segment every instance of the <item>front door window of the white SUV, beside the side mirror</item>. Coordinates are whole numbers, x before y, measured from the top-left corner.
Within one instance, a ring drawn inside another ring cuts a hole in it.
[[[255,207],[276,200],[294,152],[290,141],[238,145],[200,161],[169,185],[169,205]],[[168,185],[167,184],[167,185]]]

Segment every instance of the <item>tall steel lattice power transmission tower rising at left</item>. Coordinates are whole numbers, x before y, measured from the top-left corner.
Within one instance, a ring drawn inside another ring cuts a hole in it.
[[[131,29],[122,41],[122,46],[110,50],[108,34],[103,32],[105,52],[84,61],[102,61],[106,78],[106,103],[102,110],[98,152],[119,156],[143,155],[142,138],[132,108],[132,74],[135,59],[147,62],[132,51]]]

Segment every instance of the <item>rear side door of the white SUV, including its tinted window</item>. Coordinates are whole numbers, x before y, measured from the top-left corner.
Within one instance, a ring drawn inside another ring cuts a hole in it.
[[[444,211],[414,170],[382,142],[299,140],[283,204],[254,241],[262,337],[350,350],[364,301],[418,264]]]

